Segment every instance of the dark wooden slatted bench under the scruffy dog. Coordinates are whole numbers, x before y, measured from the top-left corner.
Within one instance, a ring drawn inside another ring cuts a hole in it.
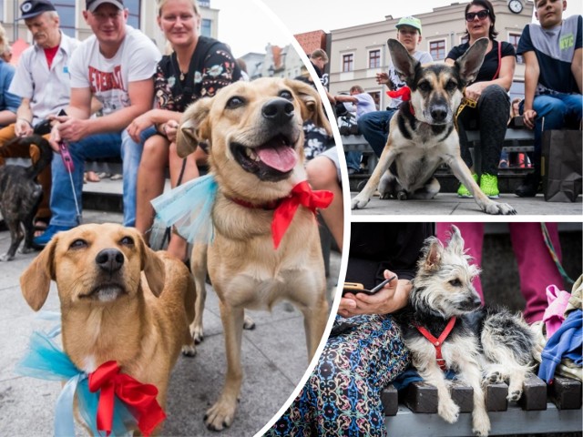
[[[518,404],[506,401],[505,383],[486,387],[486,408],[492,424],[490,435],[540,432],[581,432],[581,382],[556,376],[553,384],[532,376],[523,386]],[[382,395],[389,436],[472,435],[473,390],[459,381],[451,387],[460,406],[458,422],[450,424],[437,414],[437,389],[426,382],[413,382],[400,393],[389,385]]]

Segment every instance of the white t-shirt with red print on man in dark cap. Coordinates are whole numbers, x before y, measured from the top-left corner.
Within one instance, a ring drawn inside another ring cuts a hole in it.
[[[118,53],[110,59],[99,53],[96,36],[81,43],[71,58],[71,87],[90,88],[103,106],[103,115],[129,107],[128,85],[156,73],[159,49],[138,29],[127,25]]]

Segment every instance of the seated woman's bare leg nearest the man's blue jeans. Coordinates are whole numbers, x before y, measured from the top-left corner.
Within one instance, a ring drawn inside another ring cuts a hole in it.
[[[136,229],[148,241],[148,229],[154,223],[154,208],[150,200],[164,191],[166,166],[169,157],[169,141],[154,135],[144,143],[144,152],[138,168],[138,194],[136,198]]]

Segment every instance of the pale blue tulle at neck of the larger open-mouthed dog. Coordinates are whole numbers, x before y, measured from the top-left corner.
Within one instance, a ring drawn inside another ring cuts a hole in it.
[[[174,226],[190,243],[209,244],[214,236],[210,215],[217,189],[212,175],[189,180],[152,200],[156,219]],[[154,233],[151,239],[156,239]]]

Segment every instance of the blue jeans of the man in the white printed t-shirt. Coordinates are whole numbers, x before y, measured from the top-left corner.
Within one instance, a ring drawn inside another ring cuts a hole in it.
[[[123,203],[124,226],[134,226],[136,223],[136,188],[138,182],[139,160],[142,158],[142,145],[136,143],[128,135],[127,130],[119,133],[97,134],[84,138],[77,143],[69,144],[69,153],[73,158],[75,169],[73,187],[77,197],[79,213],[82,209],[83,173],[87,158],[113,158],[121,156],[123,162]],[[51,225],[73,228],[79,224],[75,198],[73,197],[71,180],[63,159],[53,159],[53,188],[50,207],[52,212]]]

